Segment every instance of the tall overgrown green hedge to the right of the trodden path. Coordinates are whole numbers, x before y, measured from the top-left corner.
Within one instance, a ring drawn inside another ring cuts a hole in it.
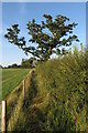
[[[46,131],[88,132],[87,48],[42,63],[36,69],[37,90],[48,93]]]

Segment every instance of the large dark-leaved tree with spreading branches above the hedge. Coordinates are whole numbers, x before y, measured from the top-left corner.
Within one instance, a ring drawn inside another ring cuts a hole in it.
[[[13,24],[12,28],[7,29],[8,32],[4,37],[10,43],[14,43],[22,49],[25,54],[32,53],[36,59],[47,61],[53,53],[64,54],[66,52],[65,48],[61,50],[61,47],[69,47],[73,41],[79,40],[75,34],[69,35],[77,23],[66,24],[69,19],[61,14],[56,16],[54,20],[50,14],[44,14],[43,17],[45,22],[42,21],[41,24],[37,24],[34,19],[26,24],[31,35],[29,42],[34,43],[34,45],[36,43],[36,47],[28,47],[24,37],[19,37],[19,24]]]

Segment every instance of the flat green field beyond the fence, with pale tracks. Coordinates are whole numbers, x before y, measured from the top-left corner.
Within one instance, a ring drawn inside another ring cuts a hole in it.
[[[2,99],[6,99],[11,91],[29,73],[29,69],[3,69],[2,70]]]

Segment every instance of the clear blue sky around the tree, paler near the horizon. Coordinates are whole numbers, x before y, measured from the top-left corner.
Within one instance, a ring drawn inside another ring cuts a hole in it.
[[[26,23],[33,18],[37,23],[44,20],[43,14],[47,13],[55,18],[63,14],[69,18],[69,23],[77,22],[74,33],[78,35],[80,42],[86,44],[86,3],[85,2],[15,2],[2,3],[2,35],[7,28],[18,23],[21,35],[29,40]],[[22,58],[26,57],[16,45],[11,44],[2,37],[2,65],[21,63]]]

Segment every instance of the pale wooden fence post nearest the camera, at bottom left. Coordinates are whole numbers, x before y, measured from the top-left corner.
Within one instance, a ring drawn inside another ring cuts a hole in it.
[[[2,133],[7,133],[7,100],[2,101]]]

